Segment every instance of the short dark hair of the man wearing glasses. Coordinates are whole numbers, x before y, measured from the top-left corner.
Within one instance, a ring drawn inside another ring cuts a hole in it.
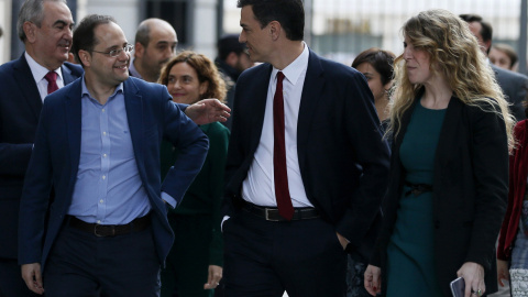
[[[79,51],[94,51],[94,47],[98,44],[96,38],[96,28],[101,24],[108,24],[110,22],[117,23],[116,19],[110,15],[101,14],[89,14],[86,15],[82,21],[80,21],[77,29],[74,31],[74,40],[72,42],[72,52],[74,53],[75,58],[82,64],[82,61],[79,57]]]

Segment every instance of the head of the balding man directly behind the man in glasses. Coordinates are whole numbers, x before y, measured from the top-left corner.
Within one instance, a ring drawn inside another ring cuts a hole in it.
[[[168,22],[156,18],[144,20],[135,33],[130,74],[156,82],[163,66],[176,54],[177,44],[176,31]]]

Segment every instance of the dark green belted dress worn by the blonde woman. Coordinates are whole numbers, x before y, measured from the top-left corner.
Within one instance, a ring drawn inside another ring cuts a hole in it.
[[[415,105],[399,148],[399,158],[410,184],[432,185],[435,153],[446,110]],[[435,264],[432,193],[406,195],[403,187],[396,224],[387,246],[387,296],[442,296]]]

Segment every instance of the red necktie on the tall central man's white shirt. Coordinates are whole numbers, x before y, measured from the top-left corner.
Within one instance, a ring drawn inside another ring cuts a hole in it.
[[[278,213],[292,220],[294,206],[289,197],[288,173],[286,170],[286,145],[284,144],[284,74],[277,73],[277,89],[273,97],[273,176],[275,179],[275,198],[277,199]]]

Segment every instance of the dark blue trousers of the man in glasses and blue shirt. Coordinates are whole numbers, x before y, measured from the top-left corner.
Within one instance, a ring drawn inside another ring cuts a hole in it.
[[[152,227],[99,238],[65,226],[43,280],[46,297],[157,297],[160,260]]]

